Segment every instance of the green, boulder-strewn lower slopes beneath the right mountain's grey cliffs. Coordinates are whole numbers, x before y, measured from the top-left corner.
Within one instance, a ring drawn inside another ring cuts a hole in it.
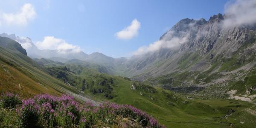
[[[253,79],[256,79],[254,46],[255,37],[244,42],[228,57],[224,54],[214,55],[214,52],[206,55],[187,52],[177,61],[179,66],[175,72],[151,77],[145,82],[169,90],[188,90],[185,92],[206,87],[207,90],[204,89],[201,93],[205,93],[206,96],[211,92],[213,97],[219,98],[224,97],[230,90],[238,90],[237,94],[241,95],[254,95],[256,92],[253,89],[255,88]],[[216,91],[216,88],[219,90]]]

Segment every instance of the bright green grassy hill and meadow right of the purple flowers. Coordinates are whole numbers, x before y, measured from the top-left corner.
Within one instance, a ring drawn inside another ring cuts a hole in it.
[[[131,81],[122,80],[121,77],[116,79],[119,80],[119,86],[113,87],[113,94],[116,97],[111,99],[112,102],[134,105],[152,114],[167,128],[227,128],[230,123],[240,125],[240,113],[251,116],[248,119],[242,118],[246,122],[243,126],[251,127],[251,119],[256,119],[255,115],[245,111],[246,108],[253,106],[247,102],[228,99],[188,99],[160,88],[152,88],[151,91],[148,87],[138,87],[132,90]],[[229,114],[230,109],[235,110],[239,116],[222,118]]]

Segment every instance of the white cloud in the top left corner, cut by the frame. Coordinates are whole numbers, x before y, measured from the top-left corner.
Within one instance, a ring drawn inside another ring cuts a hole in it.
[[[24,4],[19,12],[16,13],[0,13],[0,25],[17,25],[26,26],[30,20],[36,16],[35,8],[32,4]]]

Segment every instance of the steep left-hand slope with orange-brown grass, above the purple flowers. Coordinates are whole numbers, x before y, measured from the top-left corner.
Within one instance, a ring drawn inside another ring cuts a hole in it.
[[[90,100],[76,88],[49,76],[16,41],[0,37],[0,90],[30,97],[38,93],[67,93],[81,101]]]

